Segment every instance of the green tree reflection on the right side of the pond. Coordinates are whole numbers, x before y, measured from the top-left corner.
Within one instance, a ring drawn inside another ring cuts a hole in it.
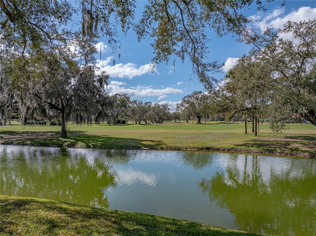
[[[235,214],[238,229],[315,235],[315,160],[234,155],[220,162],[225,169],[199,185],[211,202]]]

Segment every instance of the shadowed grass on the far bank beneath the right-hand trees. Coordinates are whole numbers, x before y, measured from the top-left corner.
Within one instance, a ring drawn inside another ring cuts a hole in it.
[[[316,157],[316,137],[313,135],[292,135],[285,138],[259,137],[238,144],[236,147],[267,153]]]

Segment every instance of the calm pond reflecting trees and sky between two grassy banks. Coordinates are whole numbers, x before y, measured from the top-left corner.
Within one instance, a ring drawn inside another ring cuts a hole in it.
[[[193,151],[0,146],[2,195],[316,235],[316,160]]]

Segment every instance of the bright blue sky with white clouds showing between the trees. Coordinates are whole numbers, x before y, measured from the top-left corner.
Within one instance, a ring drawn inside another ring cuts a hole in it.
[[[316,18],[316,0],[286,0],[285,6],[281,6],[282,0],[266,2],[267,11],[258,11],[252,7],[247,11],[248,17],[257,21],[256,27],[264,30],[267,27],[281,28],[287,21],[300,21]],[[146,1],[136,1],[136,18],[140,17]],[[250,50],[249,45],[238,43],[237,37],[228,34],[218,37],[209,32],[212,41],[209,44],[210,53],[207,55],[209,61],[217,60],[225,63],[223,73],[215,74],[217,79],[222,79],[225,71],[234,66],[237,59]],[[127,94],[131,100],[152,101],[155,103],[167,104],[171,111],[175,110],[176,103],[193,91],[204,91],[202,84],[197,78],[192,78],[192,65],[189,59],[184,63],[181,60],[172,61],[168,64],[162,63],[155,67],[155,72],[151,72],[151,60],[154,57],[153,49],[150,46],[150,38],[137,41],[136,34],[131,30],[126,36],[119,38],[120,54],[114,56],[111,49],[100,39],[97,48],[102,47],[101,60],[97,56],[97,65],[101,70],[110,74],[110,84],[106,91],[110,94]],[[115,60],[115,66],[113,66]]]

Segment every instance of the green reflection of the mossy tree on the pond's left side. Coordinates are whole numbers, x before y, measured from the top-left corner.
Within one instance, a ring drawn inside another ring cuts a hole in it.
[[[1,191],[7,195],[100,207],[109,207],[104,190],[117,184],[111,165],[129,160],[124,150],[93,151],[94,156],[65,148],[14,147],[1,152]]]

